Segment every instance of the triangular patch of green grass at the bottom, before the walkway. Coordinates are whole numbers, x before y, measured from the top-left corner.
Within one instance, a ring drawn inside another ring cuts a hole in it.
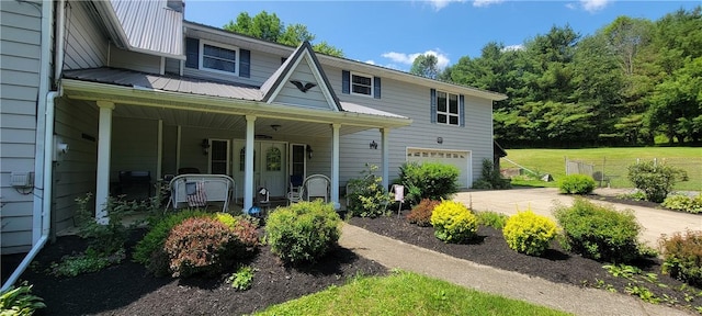
[[[412,272],[355,278],[257,315],[569,315]]]

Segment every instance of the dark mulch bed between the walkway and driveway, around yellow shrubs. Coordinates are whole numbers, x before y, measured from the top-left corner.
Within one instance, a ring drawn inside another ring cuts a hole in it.
[[[455,258],[539,276],[553,282],[601,289],[613,286],[620,293],[625,293],[624,289],[626,286],[645,286],[655,293],[656,297],[664,297],[665,294],[671,300],[677,300],[679,307],[682,307],[680,305],[689,304],[693,306],[702,305],[702,297],[697,297],[691,303],[684,301],[684,293],[679,291],[683,284],[682,282],[668,275],[660,275],[661,260],[658,258],[643,259],[631,263],[641,268],[643,270],[642,274],[649,272],[658,274],[655,283],[645,281],[644,278],[637,278],[637,282],[624,278],[614,278],[602,268],[602,266],[610,263],[568,253],[556,241],[552,242],[551,249],[542,257],[518,253],[507,246],[501,230],[491,227],[480,227],[477,232],[478,237],[473,242],[466,245],[445,244],[434,237],[432,227],[419,227],[415,224],[409,224],[405,219],[408,213],[408,211],[403,211],[401,216],[394,214],[389,217],[378,218],[353,217],[350,223],[373,233]],[[658,284],[663,284],[663,286]],[[700,292],[699,289],[697,291]],[[661,302],[661,304],[665,303]]]

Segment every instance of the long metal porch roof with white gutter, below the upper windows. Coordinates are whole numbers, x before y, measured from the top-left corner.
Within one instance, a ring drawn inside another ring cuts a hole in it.
[[[259,87],[109,67],[65,71],[61,84],[73,99],[105,100],[117,104],[261,117],[284,115],[291,120],[365,127],[396,128],[412,122],[409,117],[350,102],[340,102],[341,111],[338,112],[267,104]]]

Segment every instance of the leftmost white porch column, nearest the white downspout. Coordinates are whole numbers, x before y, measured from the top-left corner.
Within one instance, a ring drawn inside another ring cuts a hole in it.
[[[110,147],[112,146],[112,110],[114,103],[107,101],[95,102],[100,108],[98,121],[98,183],[95,188],[95,221],[107,224],[110,217],[105,205],[110,198]]]

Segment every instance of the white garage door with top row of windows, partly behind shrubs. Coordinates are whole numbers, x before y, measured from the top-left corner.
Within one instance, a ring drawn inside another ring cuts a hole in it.
[[[468,183],[471,183],[468,179],[473,177],[471,174],[471,151],[466,150],[407,148],[407,161],[419,163],[434,161],[455,166],[461,171],[461,176],[458,176],[460,188],[468,188]]]

